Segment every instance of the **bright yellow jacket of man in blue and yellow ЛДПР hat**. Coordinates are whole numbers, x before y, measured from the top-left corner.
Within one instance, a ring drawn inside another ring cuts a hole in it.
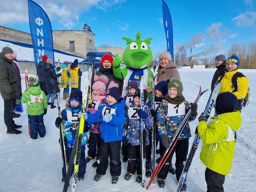
[[[234,71],[230,71],[230,72],[226,72],[225,76],[222,78],[221,82],[222,85],[220,87],[220,93],[222,92],[233,92],[234,89],[232,88],[232,77],[233,75],[238,72],[238,68]],[[220,79],[220,77],[219,77]],[[247,90],[248,90],[248,86],[249,86],[249,82],[247,77],[237,77],[237,88],[238,91],[233,92],[237,99],[244,99],[246,94],[247,94]]]

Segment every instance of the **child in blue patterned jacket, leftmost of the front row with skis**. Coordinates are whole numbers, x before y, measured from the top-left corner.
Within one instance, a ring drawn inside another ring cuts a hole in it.
[[[67,139],[67,151],[68,151],[68,161],[71,156],[73,149],[76,131],[79,123],[79,116],[81,114],[81,103],[83,101],[82,92],[80,90],[74,90],[70,93],[69,99],[66,100],[66,108],[61,111],[61,116],[56,118],[55,126],[59,128],[60,124],[63,123],[65,127],[65,137]],[[84,124],[84,133],[81,147],[80,162],[78,168],[78,179],[83,180],[86,170],[85,161],[85,144],[87,141],[87,132],[92,127],[91,124]],[[71,175],[73,174],[72,170]],[[62,182],[65,181],[66,174],[64,166],[62,167]]]

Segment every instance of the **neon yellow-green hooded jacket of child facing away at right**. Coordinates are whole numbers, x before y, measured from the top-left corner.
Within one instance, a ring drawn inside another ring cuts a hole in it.
[[[197,125],[198,134],[203,141],[200,159],[212,171],[227,175],[235,151],[235,140],[226,141],[228,135],[234,139],[234,133],[228,133],[227,124],[234,132],[237,131],[241,126],[241,115],[239,111],[235,111],[215,115],[212,119],[209,125],[205,122]]]

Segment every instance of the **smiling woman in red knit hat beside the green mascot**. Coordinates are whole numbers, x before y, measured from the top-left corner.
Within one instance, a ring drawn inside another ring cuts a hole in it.
[[[97,71],[94,75],[94,82],[99,80],[99,76],[105,75],[109,79],[108,83],[106,84],[106,87],[108,87],[110,82],[114,81],[114,83],[117,83],[120,88],[121,80],[117,79],[114,75],[113,60],[114,59],[113,59],[112,55],[110,55],[110,54],[105,54],[102,56],[99,71]]]

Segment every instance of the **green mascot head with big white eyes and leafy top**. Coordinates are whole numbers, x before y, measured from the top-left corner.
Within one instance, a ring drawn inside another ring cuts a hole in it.
[[[123,53],[123,61],[127,67],[142,69],[148,67],[152,60],[153,54],[148,44],[152,37],[148,37],[144,41],[140,40],[140,32],[136,34],[136,40],[133,41],[127,37],[122,37],[127,41],[126,45],[129,45]]]

